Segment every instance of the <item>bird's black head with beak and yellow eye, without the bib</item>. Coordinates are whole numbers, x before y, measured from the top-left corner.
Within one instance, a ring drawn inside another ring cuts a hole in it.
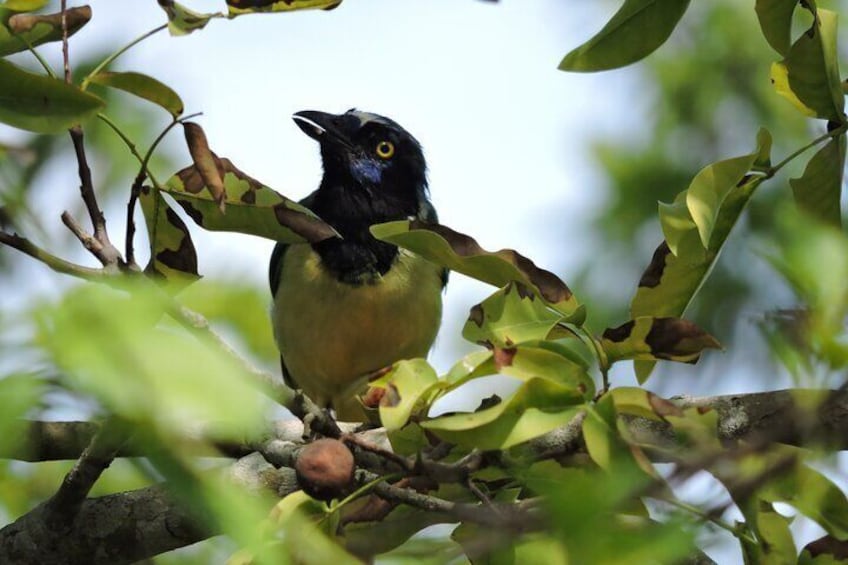
[[[419,215],[427,200],[426,165],[409,132],[389,118],[358,110],[338,115],[306,110],[293,118],[321,144],[324,179],[316,197],[332,202],[316,203],[324,209],[316,210],[319,215],[324,217],[330,205],[369,224]]]

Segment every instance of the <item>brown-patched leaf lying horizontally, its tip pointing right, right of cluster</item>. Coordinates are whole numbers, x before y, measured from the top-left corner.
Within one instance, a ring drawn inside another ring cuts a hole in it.
[[[721,344],[687,320],[640,316],[607,328],[601,347],[611,363],[622,359],[694,363],[705,349],[720,349]]]

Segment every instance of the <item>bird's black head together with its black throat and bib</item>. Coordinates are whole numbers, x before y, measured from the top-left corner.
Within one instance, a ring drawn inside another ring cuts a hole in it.
[[[436,221],[421,145],[394,121],[368,112],[305,110],[292,117],[321,144],[324,162],[321,185],[304,204],[342,236],[313,248],[340,280],[375,280],[391,267],[398,250],[374,239],[370,226],[410,217]]]

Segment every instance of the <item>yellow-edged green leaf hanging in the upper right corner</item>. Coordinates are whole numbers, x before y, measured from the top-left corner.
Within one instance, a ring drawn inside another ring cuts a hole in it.
[[[845,96],[839,80],[837,17],[829,10],[816,13],[812,27],[792,44],[783,62],[772,66],[772,81],[778,94],[796,106],[800,103],[805,114],[842,123]]]

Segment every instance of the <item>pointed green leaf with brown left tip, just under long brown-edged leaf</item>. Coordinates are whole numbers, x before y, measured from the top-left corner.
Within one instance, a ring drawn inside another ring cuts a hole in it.
[[[492,347],[548,338],[563,317],[523,284],[511,282],[471,308],[462,337]]]

